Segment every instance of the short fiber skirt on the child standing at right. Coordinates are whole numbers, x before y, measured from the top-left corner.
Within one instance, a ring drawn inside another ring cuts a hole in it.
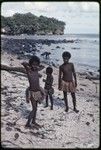
[[[61,91],[64,92],[75,92],[76,91],[76,87],[75,87],[75,83],[72,82],[65,82],[65,81],[61,81]]]

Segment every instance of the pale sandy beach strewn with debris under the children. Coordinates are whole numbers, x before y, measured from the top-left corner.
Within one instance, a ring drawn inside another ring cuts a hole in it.
[[[24,60],[25,61],[25,60]],[[22,59],[2,52],[1,64],[21,66]],[[47,67],[46,64],[42,64]],[[45,75],[40,71],[40,85]],[[54,106],[44,108],[45,100],[38,105],[36,122],[39,130],[26,129],[31,104],[25,101],[29,86],[23,73],[1,71],[1,145],[10,148],[98,148],[99,147],[99,80],[89,80],[77,72],[77,109],[73,111],[68,94],[69,111],[65,112],[63,93],[58,90],[58,67],[53,67]],[[50,104],[50,103],[49,103]]]

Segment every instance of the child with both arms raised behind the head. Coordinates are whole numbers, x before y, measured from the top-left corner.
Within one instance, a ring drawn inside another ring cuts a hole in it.
[[[30,96],[29,99],[27,99],[27,102],[29,103],[29,100],[32,104],[32,111],[30,112],[28,116],[28,121],[26,123],[26,127],[31,127],[31,123],[33,126],[40,126],[36,123],[36,112],[37,112],[37,103],[42,101],[44,99],[44,92],[42,91],[42,88],[39,85],[39,75],[38,75],[38,69],[39,69],[40,59],[37,56],[33,56],[29,63],[23,62],[22,65],[26,69],[28,80],[29,80],[29,88],[27,89],[27,96]]]

